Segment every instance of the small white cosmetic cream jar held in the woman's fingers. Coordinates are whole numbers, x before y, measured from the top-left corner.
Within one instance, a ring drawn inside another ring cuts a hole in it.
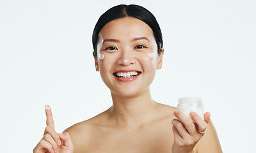
[[[177,110],[187,115],[190,119],[190,112],[196,112],[204,120],[204,105],[198,97],[184,97],[178,99]]]

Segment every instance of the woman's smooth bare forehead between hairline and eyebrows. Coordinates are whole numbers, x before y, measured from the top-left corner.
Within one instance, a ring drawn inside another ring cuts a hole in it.
[[[129,39],[136,37],[147,37],[148,40],[154,40],[152,29],[145,22],[133,18],[118,18],[104,25],[99,33],[99,38],[108,39]]]

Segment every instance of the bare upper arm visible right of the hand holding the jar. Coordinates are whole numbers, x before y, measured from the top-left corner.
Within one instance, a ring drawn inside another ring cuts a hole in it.
[[[208,123],[207,131],[205,135],[200,139],[200,141],[196,145],[196,152],[222,152],[220,141],[218,139],[218,135],[216,133],[216,129],[214,128],[211,120]]]

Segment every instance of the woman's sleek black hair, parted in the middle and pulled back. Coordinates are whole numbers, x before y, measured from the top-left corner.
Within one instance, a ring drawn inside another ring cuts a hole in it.
[[[142,6],[131,4],[125,5],[120,4],[110,8],[108,11],[103,13],[97,24],[94,27],[93,34],[92,34],[92,44],[93,44],[93,55],[97,57],[97,43],[99,38],[100,30],[104,27],[104,25],[108,24],[111,20],[115,20],[117,18],[124,18],[124,17],[134,17],[138,18],[139,20],[145,22],[153,31],[154,37],[157,43],[157,52],[161,54],[163,48],[163,37],[161,33],[161,29],[159,24],[157,23],[156,18],[154,15],[148,11],[146,8]]]

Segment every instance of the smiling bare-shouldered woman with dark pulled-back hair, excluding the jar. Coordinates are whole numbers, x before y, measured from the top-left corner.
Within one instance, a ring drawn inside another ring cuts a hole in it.
[[[195,126],[184,113],[151,98],[164,49],[150,11],[137,5],[109,9],[95,25],[93,48],[96,71],[111,91],[113,106],[60,134],[51,108],[45,107],[47,127],[34,152],[221,152],[210,113],[203,120],[191,112]]]

